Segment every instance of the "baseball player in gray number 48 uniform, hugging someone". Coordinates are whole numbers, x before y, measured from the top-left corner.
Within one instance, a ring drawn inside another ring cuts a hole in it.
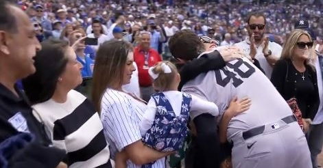
[[[182,38],[185,33],[179,31],[174,35],[173,47],[185,43]],[[178,59],[185,59],[180,52],[172,53]],[[182,91],[215,102],[220,115],[235,96],[252,100],[250,109],[233,117],[228,125],[233,167],[312,167],[304,133],[287,102],[249,59],[235,59],[220,70],[202,73],[184,84]]]

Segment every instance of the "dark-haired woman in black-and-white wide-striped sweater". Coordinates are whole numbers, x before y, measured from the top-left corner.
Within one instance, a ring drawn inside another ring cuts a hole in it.
[[[42,47],[34,58],[36,73],[23,79],[33,113],[49,130],[53,145],[67,152],[69,167],[112,167],[99,114],[73,90],[82,83],[75,51],[62,40],[45,41]]]

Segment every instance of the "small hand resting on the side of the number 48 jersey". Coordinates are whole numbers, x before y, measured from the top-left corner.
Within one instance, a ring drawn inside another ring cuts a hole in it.
[[[250,108],[251,100],[249,98],[243,98],[238,100],[237,97],[233,98],[229,104],[226,113],[230,116],[235,117],[236,115],[247,111]]]

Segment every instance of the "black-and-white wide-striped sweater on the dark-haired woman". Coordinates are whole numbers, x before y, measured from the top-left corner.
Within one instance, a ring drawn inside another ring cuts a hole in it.
[[[66,150],[69,167],[111,167],[99,114],[85,96],[71,90],[64,103],[50,99],[33,108],[50,132],[53,145]]]

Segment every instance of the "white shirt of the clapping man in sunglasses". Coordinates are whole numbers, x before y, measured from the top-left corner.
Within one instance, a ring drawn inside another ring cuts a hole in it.
[[[246,55],[246,57],[250,58],[250,41],[249,38],[243,40],[242,42],[238,42],[235,44],[238,46],[241,51]],[[269,42],[268,49],[272,51],[272,56],[276,57],[277,59],[280,58],[281,52],[283,48],[277,44],[276,42]],[[255,58],[259,61],[261,68],[265,71],[265,75],[268,79],[272,77],[272,66],[268,64],[267,59],[263,55],[263,45],[259,45],[256,47],[256,56]]]

